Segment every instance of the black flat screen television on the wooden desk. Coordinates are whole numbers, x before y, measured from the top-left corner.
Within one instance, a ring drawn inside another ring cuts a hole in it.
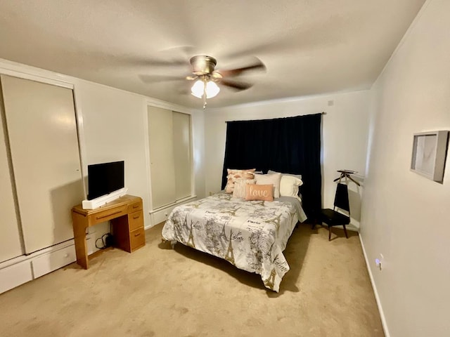
[[[87,199],[92,200],[124,188],[124,161],[87,166]]]

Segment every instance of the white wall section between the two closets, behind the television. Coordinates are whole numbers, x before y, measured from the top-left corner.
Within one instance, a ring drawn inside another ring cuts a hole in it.
[[[125,161],[125,187],[128,194],[143,198],[144,223],[148,214],[148,176],[146,171],[146,138],[141,95],[101,86],[89,81],[77,81],[77,110],[82,114],[83,166],[108,161]],[[109,232],[109,224],[89,228],[94,239]]]

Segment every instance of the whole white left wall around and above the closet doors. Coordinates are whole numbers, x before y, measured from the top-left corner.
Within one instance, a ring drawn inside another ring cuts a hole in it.
[[[145,225],[150,227],[148,169],[147,105],[192,115],[194,190],[205,196],[204,185],[204,128],[203,111],[172,105],[143,95],[103,86],[75,77],[57,74],[36,67],[0,59],[0,72],[11,76],[43,80],[46,83],[65,83],[73,86],[79,123],[80,152],[86,183],[87,165],[105,161],[125,161],[125,185],[128,193],[143,199]],[[81,200],[80,200],[81,202]],[[94,226],[90,232],[99,237],[109,230],[107,224]]]

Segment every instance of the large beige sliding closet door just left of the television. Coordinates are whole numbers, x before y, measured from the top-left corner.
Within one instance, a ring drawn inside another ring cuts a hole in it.
[[[71,89],[1,76],[26,253],[73,237],[83,199]]]

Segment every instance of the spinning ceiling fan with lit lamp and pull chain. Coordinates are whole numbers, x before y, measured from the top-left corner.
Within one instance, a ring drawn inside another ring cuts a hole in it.
[[[191,94],[198,98],[203,98],[203,109],[206,107],[206,99],[213,98],[219,93],[220,86],[229,87],[235,91],[243,91],[250,88],[253,84],[244,81],[230,79],[231,77],[238,77],[244,72],[250,70],[266,70],[264,63],[258,58],[254,58],[250,64],[243,67],[238,67],[230,70],[215,70],[217,60],[208,55],[195,55],[189,60],[192,67],[192,74],[186,77],[173,76],[156,76],[143,75],[143,81],[160,81],[160,80],[179,80],[186,79],[188,81],[195,81]]]

